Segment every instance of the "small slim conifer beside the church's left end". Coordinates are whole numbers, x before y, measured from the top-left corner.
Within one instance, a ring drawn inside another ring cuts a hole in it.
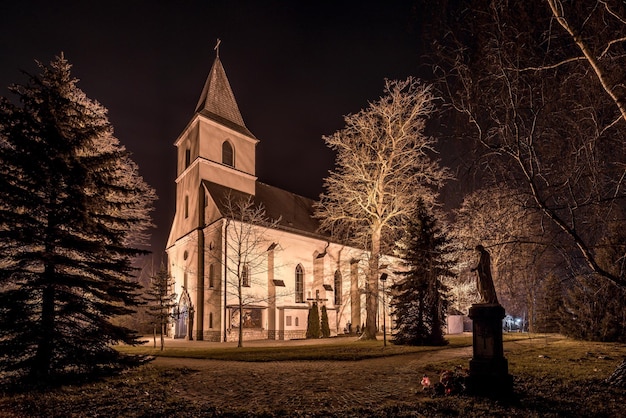
[[[153,324],[160,330],[161,351],[165,347],[165,334],[167,326],[172,322],[172,310],[176,306],[176,293],[174,279],[161,266],[156,275],[152,276],[150,288],[144,299],[148,302],[148,315],[153,319]]]

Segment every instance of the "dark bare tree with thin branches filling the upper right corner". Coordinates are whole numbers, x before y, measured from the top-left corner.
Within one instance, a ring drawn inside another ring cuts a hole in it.
[[[439,45],[437,68],[447,69],[449,103],[484,151],[483,176],[522,191],[568,253],[626,286],[597,258],[626,197],[622,10],[576,2],[568,15],[547,3],[473,2],[468,26]]]

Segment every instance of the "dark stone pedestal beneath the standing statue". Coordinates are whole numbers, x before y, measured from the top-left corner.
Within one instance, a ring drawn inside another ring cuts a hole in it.
[[[504,316],[499,304],[474,304],[469,310],[474,348],[467,379],[471,394],[505,396],[513,392],[513,376],[502,346]]]

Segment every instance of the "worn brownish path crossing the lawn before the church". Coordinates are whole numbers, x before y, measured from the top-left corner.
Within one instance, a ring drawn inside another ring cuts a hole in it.
[[[507,342],[505,352],[529,341],[533,340]],[[248,347],[255,345],[246,342]],[[468,367],[471,356],[472,348],[464,347],[359,361],[251,363],[158,357],[151,367],[189,369],[177,383],[176,395],[223,410],[236,406],[250,411],[349,410],[414,404],[417,396],[425,396],[420,380],[429,364],[458,359],[459,365]],[[433,383],[438,381],[438,376],[429,375]]]

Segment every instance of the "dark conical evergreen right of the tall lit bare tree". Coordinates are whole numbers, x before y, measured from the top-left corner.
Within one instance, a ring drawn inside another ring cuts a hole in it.
[[[454,277],[452,248],[444,231],[423,201],[408,219],[401,243],[408,267],[390,286],[391,313],[395,317],[393,341],[407,345],[444,345],[443,326],[448,307],[442,279]]]

